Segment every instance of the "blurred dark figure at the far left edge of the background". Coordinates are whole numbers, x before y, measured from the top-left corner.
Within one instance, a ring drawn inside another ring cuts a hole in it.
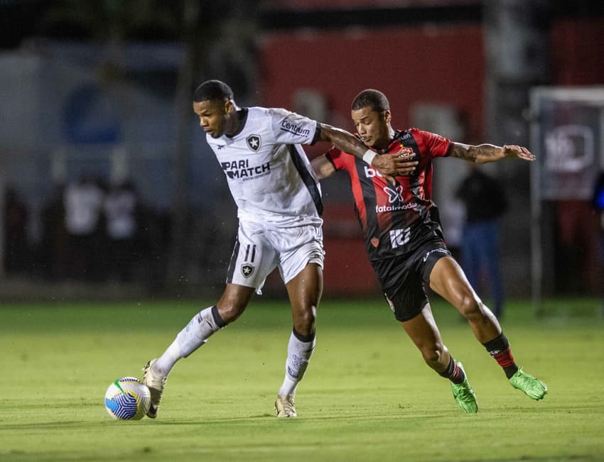
[[[29,266],[28,210],[14,188],[6,189],[4,201],[4,269],[24,273]]]

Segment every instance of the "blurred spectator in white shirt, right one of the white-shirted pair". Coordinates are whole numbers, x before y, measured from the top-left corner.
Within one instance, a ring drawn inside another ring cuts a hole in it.
[[[127,181],[114,185],[104,199],[105,226],[108,238],[107,274],[120,282],[132,280],[133,265],[139,256],[139,197]]]

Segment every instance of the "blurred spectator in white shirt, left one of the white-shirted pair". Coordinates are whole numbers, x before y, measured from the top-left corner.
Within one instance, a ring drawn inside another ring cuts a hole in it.
[[[68,236],[67,276],[76,280],[100,280],[104,253],[102,182],[89,176],[65,189],[65,229]]]

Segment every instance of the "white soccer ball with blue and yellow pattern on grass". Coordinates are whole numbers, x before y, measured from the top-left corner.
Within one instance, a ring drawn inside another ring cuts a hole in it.
[[[136,377],[122,377],[109,385],[105,409],[116,420],[142,419],[151,406],[151,392]]]

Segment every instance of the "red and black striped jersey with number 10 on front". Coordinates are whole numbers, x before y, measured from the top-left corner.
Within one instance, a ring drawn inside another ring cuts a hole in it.
[[[442,238],[438,209],[432,202],[432,159],[450,155],[453,142],[436,133],[409,128],[395,132],[379,154],[411,148],[419,164],[409,176],[387,181],[363,160],[332,148],[327,156],[336,170],[346,170],[355,199],[355,211],[365,236],[370,260],[414,251],[431,236]]]

